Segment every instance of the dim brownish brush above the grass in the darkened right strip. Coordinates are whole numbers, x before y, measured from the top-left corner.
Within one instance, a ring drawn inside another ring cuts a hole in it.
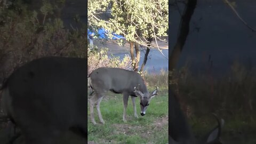
[[[235,61],[223,76],[209,74],[192,75],[189,68],[170,73],[172,89],[179,93],[183,110],[191,116],[217,113],[226,117],[238,117],[243,121],[255,119],[256,69],[246,68]]]

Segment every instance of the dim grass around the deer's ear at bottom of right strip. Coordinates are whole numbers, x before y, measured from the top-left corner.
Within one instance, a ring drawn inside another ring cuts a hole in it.
[[[215,121],[215,119],[213,119],[213,116],[211,117],[193,117],[189,119],[189,123],[191,126],[193,126],[193,132],[197,138],[202,137],[207,132],[212,130],[215,125],[217,125],[217,122]],[[241,118],[233,118],[231,116],[222,116],[222,118],[225,119],[225,125],[223,126],[221,132],[221,140],[223,141],[223,143],[256,143],[255,122],[247,122]]]

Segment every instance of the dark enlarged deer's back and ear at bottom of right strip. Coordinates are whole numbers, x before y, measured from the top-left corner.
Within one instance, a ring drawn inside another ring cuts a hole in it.
[[[185,114],[180,108],[177,94],[169,88],[169,142],[172,144],[217,144],[220,142],[221,129],[225,123],[219,119],[216,114],[213,116],[217,119],[218,125],[204,135],[201,140],[195,138],[191,132]]]

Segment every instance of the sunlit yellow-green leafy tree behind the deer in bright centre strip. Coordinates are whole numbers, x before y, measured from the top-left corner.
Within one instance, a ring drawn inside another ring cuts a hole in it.
[[[107,15],[106,11],[110,10],[110,15]],[[88,2],[89,25],[94,29],[105,28],[110,38],[115,37],[113,33],[123,35],[130,43],[135,71],[138,71],[140,58],[138,44],[147,46],[140,70],[142,71],[147,62],[151,42],[162,41],[161,37],[167,36],[168,14],[167,0],[90,0]],[[134,57],[133,45],[137,58]]]

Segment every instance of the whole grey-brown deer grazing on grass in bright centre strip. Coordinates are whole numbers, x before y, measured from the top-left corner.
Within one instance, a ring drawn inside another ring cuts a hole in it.
[[[126,123],[126,108],[129,96],[131,95],[134,117],[138,118],[135,98],[140,98],[141,116],[146,114],[151,99],[157,95],[158,87],[153,92],[149,92],[141,75],[135,71],[122,68],[101,67],[91,72],[88,77],[88,84],[93,89],[92,97],[89,99],[91,121],[97,124],[94,119],[94,105],[96,105],[100,122],[105,124],[100,111],[100,102],[105,97],[106,92],[123,94],[124,112],[123,122]]]

